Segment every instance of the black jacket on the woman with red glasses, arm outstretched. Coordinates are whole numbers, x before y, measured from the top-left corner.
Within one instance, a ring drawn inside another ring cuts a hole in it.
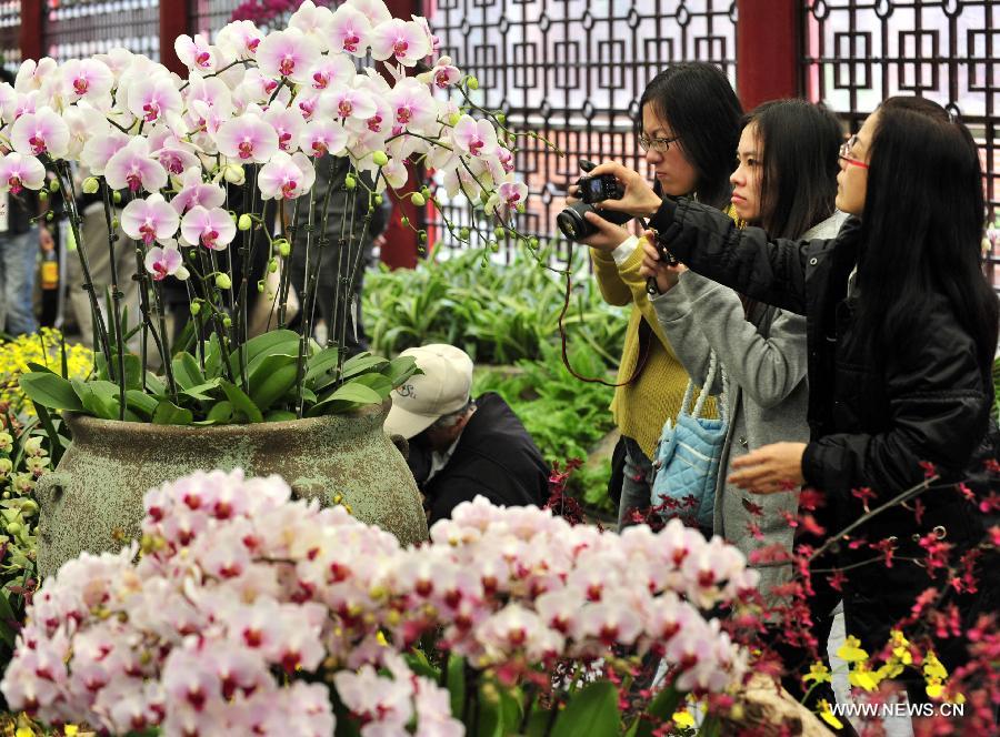
[[[958,324],[948,300],[927,295],[918,334],[872,355],[856,331],[857,297],[848,277],[859,256],[860,222],[850,219],[832,241],[769,240],[757,228],[689,200],[664,200],[651,226],[670,251],[694,271],[753,299],[806,315],[809,350],[809,412],[812,441],[802,460],[810,486],[821,489],[821,523],[831,533],[863,514],[852,489],[869,487],[878,506],[924,478],[921,462],[946,481],[982,467],[992,387],[977,360],[972,337]],[[904,350],[903,350],[904,349]],[[973,458],[973,455],[976,457]],[[898,556],[922,557],[913,541],[936,526],[959,549],[977,543],[984,517],[953,484],[921,496],[921,523],[894,507],[858,528],[854,537],[894,536]],[[870,548],[841,546],[839,565],[873,556]],[[888,626],[909,613],[928,585],[922,568],[864,566],[849,572],[844,600],[849,632],[881,645]],[[940,585],[940,582],[938,582]],[[853,629],[851,626],[853,625]],[[867,635],[867,637],[866,637]]]

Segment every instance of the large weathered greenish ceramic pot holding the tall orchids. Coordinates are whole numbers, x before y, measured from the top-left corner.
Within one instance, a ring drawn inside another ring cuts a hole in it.
[[[37,487],[38,566],[134,538],[147,489],[197,470],[279,474],[299,497],[343,503],[401,543],[428,537],[407,462],[382,428],[390,402],[347,415],[219,427],[113,422],[67,413],[73,442]]]

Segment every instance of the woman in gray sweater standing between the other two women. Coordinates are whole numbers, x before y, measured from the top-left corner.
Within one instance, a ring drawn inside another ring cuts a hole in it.
[[[833,238],[846,215],[834,214],[840,124],[824,108],[802,100],[767,102],[747,118],[730,178],[732,204],[747,224],[771,236]],[[730,464],[750,451],[787,440],[806,442],[806,319],[741,296],[731,289],[656,260],[643,241],[647,264],[661,294],[651,299],[660,326],[696,383],[708,373],[714,353],[728,378],[729,425],[722,447],[714,504],[714,532],[752,551],[776,543],[791,553],[797,494],[751,499],[727,484]],[[721,380],[709,387],[722,390]],[[752,503],[751,503],[752,502]],[[760,592],[792,577],[789,559],[761,564]]]

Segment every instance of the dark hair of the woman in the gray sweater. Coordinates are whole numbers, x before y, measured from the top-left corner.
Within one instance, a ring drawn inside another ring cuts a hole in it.
[[[833,214],[843,134],[822,104],[772,100],[746,118],[761,157],[760,221],[772,238],[801,238]]]

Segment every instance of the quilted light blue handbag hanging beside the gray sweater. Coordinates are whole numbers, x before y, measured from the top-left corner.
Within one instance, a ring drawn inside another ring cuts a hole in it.
[[[717,371],[722,372],[722,368],[712,351],[702,386],[712,385]],[[722,394],[716,403],[719,418],[709,420],[701,416],[707,391],[702,391],[694,407],[688,410],[694,396],[694,382],[688,381],[677,422],[667,418],[653,457],[650,504],[660,506],[664,499],[673,499],[680,505],[678,516],[693,517],[699,527],[708,529],[712,527],[719,462],[726,443],[726,373],[722,372]],[[687,501],[688,497],[694,498],[693,505]]]

